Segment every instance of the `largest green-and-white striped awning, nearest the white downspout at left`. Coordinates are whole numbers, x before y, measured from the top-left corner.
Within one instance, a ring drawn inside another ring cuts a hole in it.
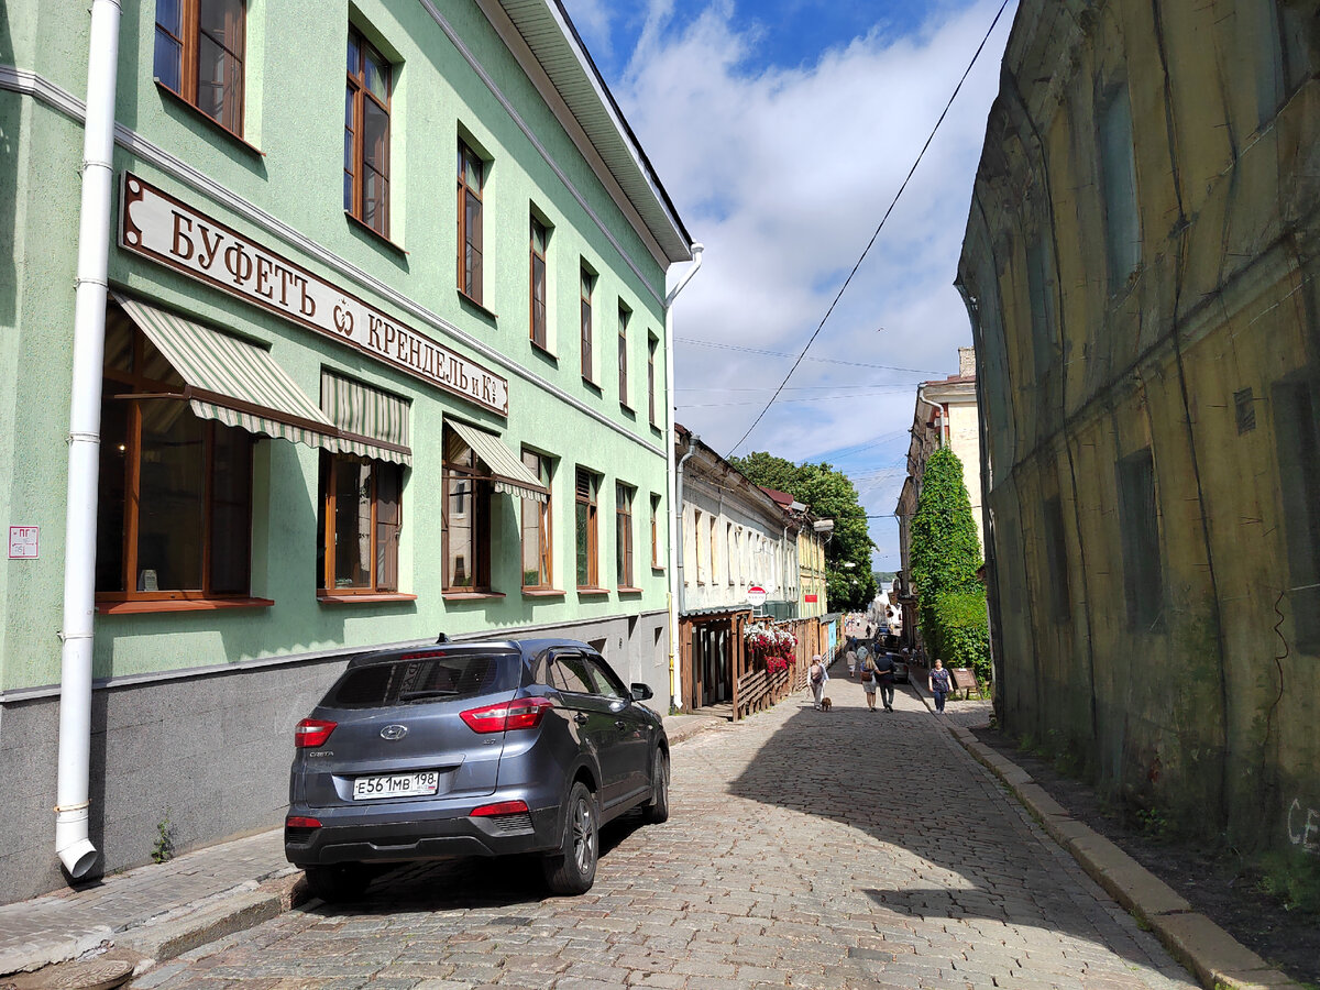
[[[128,318],[183,379],[193,412],[248,433],[335,450],[334,424],[268,351],[115,293]]]

